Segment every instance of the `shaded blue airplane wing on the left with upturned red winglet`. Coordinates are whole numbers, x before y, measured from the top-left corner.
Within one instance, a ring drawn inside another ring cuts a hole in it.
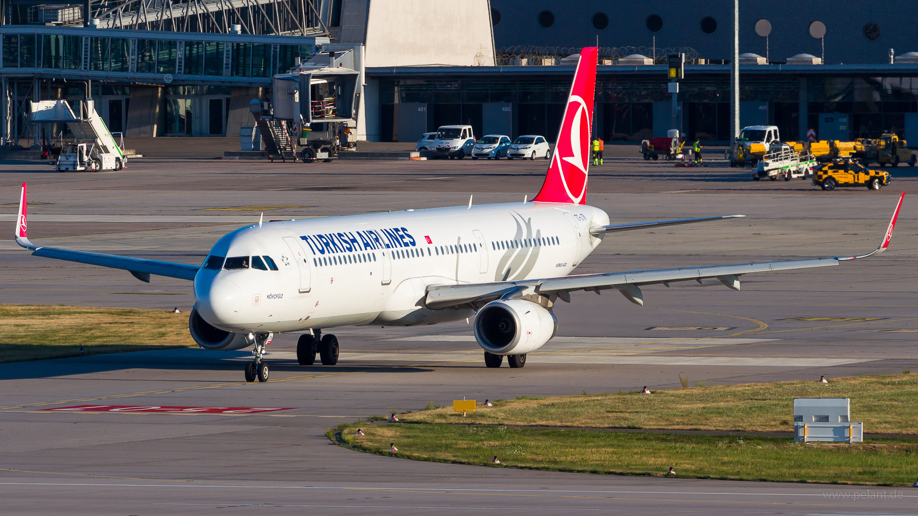
[[[19,197],[19,217],[16,227],[16,243],[30,250],[35,256],[44,256],[56,260],[65,260],[67,262],[76,262],[79,264],[99,265],[113,269],[122,269],[134,275],[140,281],[150,283],[150,275],[161,275],[168,277],[177,277],[180,279],[194,280],[197,265],[177,264],[174,262],[162,262],[160,260],[145,260],[143,258],[132,258],[130,256],[119,256],[118,254],[103,254],[101,252],[74,251],[72,249],[60,249],[56,247],[44,247],[35,245],[28,241],[26,234],[26,188],[22,184],[22,194]]]

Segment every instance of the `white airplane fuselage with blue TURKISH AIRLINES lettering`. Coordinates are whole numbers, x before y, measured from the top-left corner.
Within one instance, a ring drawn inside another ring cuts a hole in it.
[[[608,223],[599,208],[527,202],[253,225],[214,245],[206,264],[246,268],[202,267],[196,308],[228,331],[462,320],[474,310],[426,308],[427,286],[568,275],[601,241],[589,228]],[[249,267],[254,256],[278,270]]]

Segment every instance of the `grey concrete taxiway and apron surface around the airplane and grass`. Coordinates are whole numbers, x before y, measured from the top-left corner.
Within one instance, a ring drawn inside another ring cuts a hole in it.
[[[12,229],[18,185],[28,181],[33,241],[200,263],[219,236],[262,212],[299,219],[464,205],[470,195],[475,203],[521,201],[537,191],[543,170],[541,162],[158,158],[121,173],[53,174],[45,165],[4,163],[0,224]],[[822,192],[803,181],[753,183],[748,169],[620,158],[590,174],[588,201],[613,220],[749,217],[613,235],[577,272],[866,252],[879,243],[898,193],[918,191],[913,169],[892,174],[896,181],[879,192]],[[647,287],[643,308],[615,293],[574,296],[556,308],[559,337],[523,369],[485,368],[464,321],[334,331],[341,341],[334,367],[297,365],[297,335],[280,335],[266,357],[267,384],[241,381],[245,352],[0,365],[3,513],[918,514],[911,489],[442,465],[360,454],[325,437],[340,421],[431,400],[677,388],[680,375],[712,385],[918,370],[918,212],[910,198],[890,251],[875,259],[750,275],[741,292],[717,282]],[[29,256],[11,240],[0,241],[0,261],[5,303],[187,310],[193,302],[188,282],[140,284],[127,273]],[[76,405],[289,409],[46,410]]]

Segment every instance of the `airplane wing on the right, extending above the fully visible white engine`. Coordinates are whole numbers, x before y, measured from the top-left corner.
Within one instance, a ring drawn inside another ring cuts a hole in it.
[[[740,289],[739,277],[754,273],[767,273],[774,271],[789,271],[811,267],[825,267],[838,265],[847,260],[859,260],[874,254],[886,251],[892,240],[892,230],[895,228],[896,219],[905,193],[899,197],[896,209],[890,219],[879,247],[866,254],[854,256],[835,256],[826,258],[807,258],[801,260],[779,260],[775,262],[757,262],[752,264],[726,264],[706,265],[701,267],[678,267],[674,269],[655,269],[647,271],[630,271],[622,273],[600,273],[594,275],[569,275],[531,279],[521,281],[502,281],[494,283],[465,284],[465,285],[433,285],[427,288],[426,305],[429,308],[447,308],[472,304],[483,306],[485,303],[499,298],[514,298],[539,295],[548,297],[552,301],[560,298],[570,301],[570,293],[578,290],[600,290],[614,288],[621,295],[637,305],[644,305],[644,295],[641,286],[662,284],[669,286],[678,281],[717,278],[720,282],[733,290]],[[692,220],[692,219],[689,219]]]

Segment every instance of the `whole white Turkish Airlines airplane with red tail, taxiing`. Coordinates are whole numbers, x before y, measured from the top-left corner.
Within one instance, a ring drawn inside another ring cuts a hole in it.
[[[740,275],[837,265],[890,244],[902,197],[882,243],[867,254],[570,275],[606,233],[742,217],[610,224],[605,211],[585,204],[597,50],[580,53],[548,174],[529,202],[259,222],[219,239],[197,266],[35,245],[26,235],[24,184],[16,240],[37,256],[123,269],[145,282],[194,281],[192,337],[208,350],[253,345],[247,381],[267,380],[262,354],[274,333],[306,331],[299,363],[312,365],[319,353],[323,365],[335,365],[338,340],[323,330],[471,317],[488,367],[505,355],[522,367],[526,353],[554,336],[554,303],[573,292],[615,289],[642,305],[645,285],[717,278],[739,290]]]

